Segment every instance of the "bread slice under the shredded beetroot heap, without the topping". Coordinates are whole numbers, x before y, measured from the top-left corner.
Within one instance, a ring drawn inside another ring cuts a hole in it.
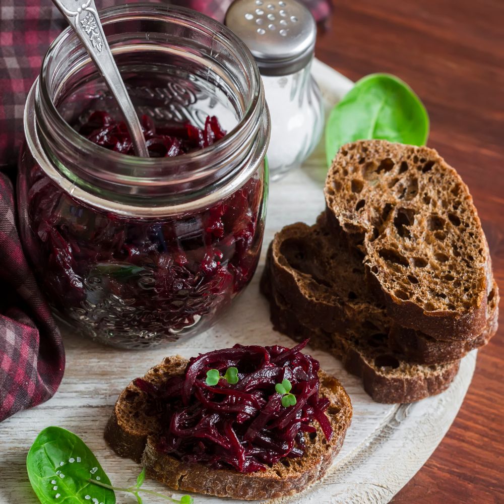
[[[168,377],[183,375],[187,361],[167,357],[143,377],[162,387]],[[141,462],[147,475],[175,490],[198,492],[244,500],[293,495],[320,480],[340,451],[352,418],[352,406],[345,389],[324,371],[319,372],[321,395],[330,400],[328,418],[333,427],[330,442],[317,422],[315,437],[306,434],[306,452],[298,459],[282,459],[266,471],[241,474],[233,469],[210,469],[186,464],[156,450],[161,432],[160,414],[152,399],[131,382],[119,395],[105,429],[105,439],[121,457]]]

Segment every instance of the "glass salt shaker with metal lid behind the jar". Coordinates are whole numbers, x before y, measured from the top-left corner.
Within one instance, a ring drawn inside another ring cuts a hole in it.
[[[296,0],[235,0],[225,24],[261,72],[271,115],[270,175],[278,179],[309,156],[322,134],[322,99],[310,73],[316,23]]]

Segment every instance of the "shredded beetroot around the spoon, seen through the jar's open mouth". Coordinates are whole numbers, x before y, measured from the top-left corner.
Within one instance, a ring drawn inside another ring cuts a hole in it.
[[[226,134],[215,116],[207,116],[203,129],[190,122],[154,125],[154,121],[148,115],[144,115],[141,122],[151,157],[174,157],[187,154],[212,145]],[[115,121],[107,112],[102,110],[92,112],[78,131],[88,140],[105,149],[135,155],[126,124],[123,121]]]

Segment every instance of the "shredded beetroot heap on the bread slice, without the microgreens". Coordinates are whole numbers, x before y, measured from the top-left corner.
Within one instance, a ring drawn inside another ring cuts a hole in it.
[[[301,353],[308,340],[288,349],[282,346],[241,346],[193,357],[185,376],[173,376],[162,389],[138,378],[161,413],[164,430],[158,450],[186,463],[214,469],[234,468],[242,473],[265,470],[284,457],[302,457],[305,433],[316,432],[319,422],[327,440],[333,430],[320,397],[319,362]],[[205,383],[206,372],[238,368],[239,381]],[[287,379],[296,396],[284,407],[275,384]]]

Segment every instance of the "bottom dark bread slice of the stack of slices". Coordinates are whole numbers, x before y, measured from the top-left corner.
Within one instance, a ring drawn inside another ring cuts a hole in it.
[[[265,284],[263,284],[265,285]],[[410,364],[391,354],[383,340],[362,340],[347,333],[328,333],[301,324],[297,311],[288,306],[274,288],[265,290],[274,328],[295,339],[310,338],[310,346],[332,353],[345,369],[359,376],[366,393],[379,403],[411,403],[446,390],[455,378],[460,361],[447,364]]]

